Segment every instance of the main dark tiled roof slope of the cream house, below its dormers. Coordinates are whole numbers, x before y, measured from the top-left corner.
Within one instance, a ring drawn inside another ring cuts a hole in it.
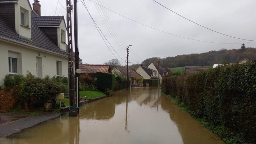
[[[32,16],[36,14],[31,11]],[[47,52],[54,52],[62,56],[68,56],[67,51],[61,50],[35,23],[35,19],[31,19],[31,40],[19,36],[14,29],[12,29],[4,19],[0,17],[0,40],[7,40],[26,46],[34,47],[35,49],[44,50]]]

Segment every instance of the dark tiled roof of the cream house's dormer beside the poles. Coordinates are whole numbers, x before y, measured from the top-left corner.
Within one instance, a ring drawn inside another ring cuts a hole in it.
[[[65,21],[64,16],[33,16],[31,17],[39,27],[60,26],[61,21]],[[67,29],[67,26],[65,24]]]

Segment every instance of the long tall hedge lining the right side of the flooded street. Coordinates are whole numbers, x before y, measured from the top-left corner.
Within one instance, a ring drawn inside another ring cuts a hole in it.
[[[256,143],[256,59],[163,78],[162,91],[217,128],[225,142]]]

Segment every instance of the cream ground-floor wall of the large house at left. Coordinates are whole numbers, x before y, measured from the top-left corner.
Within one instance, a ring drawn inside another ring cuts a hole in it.
[[[3,85],[5,75],[9,74],[8,51],[19,53],[18,57],[18,74],[26,76],[27,71],[36,76],[36,58],[42,57],[42,76],[50,77],[56,75],[56,62],[61,61],[61,74],[68,76],[68,58],[57,56],[55,54],[43,52],[40,50],[30,49],[13,43],[5,43],[0,41],[0,85]],[[40,53],[40,56],[39,56]]]

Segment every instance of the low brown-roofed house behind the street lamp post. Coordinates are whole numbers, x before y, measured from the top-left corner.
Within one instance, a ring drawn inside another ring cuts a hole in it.
[[[126,77],[126,68],[123,67],[117,67],[112,70],[112,73],[116,76],[124,76]],[[137,73],[135,70],[128,69],[128,77],[130,78],[132,85],[139,84],[138,78],[143,78],[139,73]]]

